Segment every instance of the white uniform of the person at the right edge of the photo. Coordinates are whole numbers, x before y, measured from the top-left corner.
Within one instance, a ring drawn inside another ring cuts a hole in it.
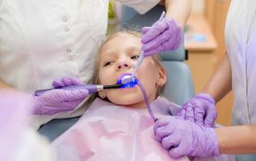
[[[233,0],[225,27],[233,77],[233,124],[256,123],[256,1]]]

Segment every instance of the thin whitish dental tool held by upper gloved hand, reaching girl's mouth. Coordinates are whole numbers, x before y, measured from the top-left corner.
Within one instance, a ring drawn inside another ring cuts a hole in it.
[[[164,19],[165,15],[166,15],[166,12],[162,11],[162,14],[161,14],[160,18],[158,19],[158,21],[162,21],[162,19]],[[132,81],[132,78],[135,76],[136,71],[138,70],[138,68],[142,64],[142,61],[144,60],[144,57],[145,57],[144,52],[141,52],[141,55],[139,56],[139,58],[136,62],[136,66],[132,72],[132,75],[129,77],[128,76],[124,77],[124,79],[122,80],[122,84],[128,84],[129,82]]]

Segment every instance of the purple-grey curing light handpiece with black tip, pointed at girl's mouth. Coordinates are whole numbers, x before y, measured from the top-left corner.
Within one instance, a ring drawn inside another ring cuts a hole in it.
[[[57,89],[64,89],[64,90],[76,90],[76,89],[87,89],[89,93],[98,93],[99,91],[103,89],[119,89],[122,87],[123,84],[118,84],[118,85],[70,85],[70,86],[65,86]],[[52,89],[41,89],[41,90],[36,90],[34,95],[35,96],[40,96],[43,93],[50,91]]]

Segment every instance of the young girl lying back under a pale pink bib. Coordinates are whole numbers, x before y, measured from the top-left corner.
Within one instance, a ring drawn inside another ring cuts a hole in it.
[[[120,31],[100,48],[94,84],[115,85],[120,76],[131,74],[141,54],[141,36]],[[136,72],[153,113],[175,114],[178,105],[159,97],[166,71],[156,56],[145,57]],[[100,97],[100,98],[99,98]],[[153,134],[153,119],[141,89],[107,89],[99,92],[90,108],[69,130],[52,142],[59,160],[187,160],[172,159]]]

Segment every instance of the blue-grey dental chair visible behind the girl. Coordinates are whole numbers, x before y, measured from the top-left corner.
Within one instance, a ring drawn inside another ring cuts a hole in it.
[[[136,10],[128,6],[123,6],[121,19],[121,29],[141,31],[141,27],[151,26],[159,19],[164,10],[163,6],[155,6],[146,14],[138,14]],[[162,52],[160,54],[162,64],[166,68],[168,81],[163,91],[163,96],[178,105],[183,105],[185,101],[194,96],[194,87],[191,80],[191,72],[184,60],[187,58],[184,44],[175,51]],[[60,134],[68,130],[78,118],[54,119],[40,127],[40,134],[45,135],[49,141],[53,141]]]

